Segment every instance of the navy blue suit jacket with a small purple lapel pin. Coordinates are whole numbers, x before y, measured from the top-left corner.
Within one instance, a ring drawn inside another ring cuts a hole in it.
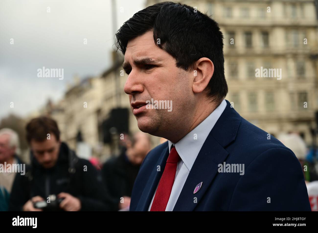
[[[206,138],[174,211],[310,211],[302,167],[294,153],[246,121],[228,101]],[[131,211],[147,211],[162,176],[168,142],[145,157],[134,183]],[[218,164],[244,164],[245,174],[218,172]],[[160,165],[161,171],[157,171]],[[197,184],[200,190],[193,194]]]

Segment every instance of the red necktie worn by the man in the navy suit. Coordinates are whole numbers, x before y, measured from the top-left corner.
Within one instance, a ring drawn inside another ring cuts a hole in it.
[[[180,160],[180,156],[175,147],[170,150],[169,157],[166,162],[166,166],[163,170],[163,174],[160,178],[159,185],[155,194],[155,198],[152,202],[150,211],[165,211],[171,189],[175,181],[177,163]]]

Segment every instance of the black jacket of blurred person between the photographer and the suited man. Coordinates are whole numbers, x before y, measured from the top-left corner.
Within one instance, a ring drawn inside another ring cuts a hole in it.
[[[107,193],[112,199],[112,210],[119,210],[120,198],[131,196],[140,165],[133,165],[126,157],[126,150],[120,156],[110,158],[102,167]]]

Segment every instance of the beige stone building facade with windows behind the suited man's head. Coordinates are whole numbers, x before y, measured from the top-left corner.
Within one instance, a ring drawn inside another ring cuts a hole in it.
[[[147,1],[152,5],[158,1]],[[229,86],[226,99],[234,102],[234,108],[242,117],[261,129],[278,136],[282,132],[299,132],[307,144],[312,142],[309,126],[315,126],[318,110],[317,77],[318,60],[311,55],[318,52],[318,22],[314,1],[236,1],[207,0],[180,1],[201,12],[207,12],[216,20],[224,34],[225,77]],[[270,7],[270,13],[267,12]],[[231,17],[226,17],[230,8]],[[248,16],[244,15],[248,9]],[[245,11],[246,12],[246,11]],[[245,17],[244,17],[245,16]],[[235,32],[234,48],[229,44],[228,32]],[[252,32],[252,48],[245,48],[244,32]],[[268,32],[268,47],[262,46],[262,31]],[[293,33],[298,33],[298,46],[294,46]],[[307,44],[303,39],[307,38]],[[297,76],[297,62],[305,64],[305,75]],[[236,78],[230,75],[230,63],[237,63]],[[270,63],[271,69],[282,69],[282,79],[249,78],[246,64],[254,69]],[[274,109],[268,110],[266,94],[273,93]],[[308,108],[299,108],[299,93],[307,93]],[[249,95],[255,93],[257,110],[250,110]],[[237,97],[239,96],[239,97]],[[292,100],[294,96],[294,101]],[[239,102],[239,103],[237,103]],[[236,108],[240,106],[240,108]]]

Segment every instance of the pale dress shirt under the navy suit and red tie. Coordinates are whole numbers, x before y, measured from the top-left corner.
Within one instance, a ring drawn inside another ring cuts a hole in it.
[[[176,144],[176,151],[178,152],[181,160],[177,164],[175,181],[172,186],[171,194],[169,201],[166,207],[166,211],[172,211],[175,207],[175,204],[179,198],[181,190],[187,177],[190,173],[192,165],[199,154],[201,147],[203,146],[205,139],[208,137],[210,131],[212,130],[215,123],[218,121],[218,118],[221,116],[222,112],[225,110],[226,101],[223,100],[221,104],[201,122],[196,128],[194,128],[190,133],[180,139]],[[197,138],[197,139],[196,139]],[[172,146],[172,142],[169,143],[169,151]],[[158,183],[159,185],[159,183]],[[158,188],[157,185],[157,188]],[[157,189],[156,189],[157,191]],[[152,197],[151,203],[149,205],[148,211],[151,209],[152,202],[154,197]]]

